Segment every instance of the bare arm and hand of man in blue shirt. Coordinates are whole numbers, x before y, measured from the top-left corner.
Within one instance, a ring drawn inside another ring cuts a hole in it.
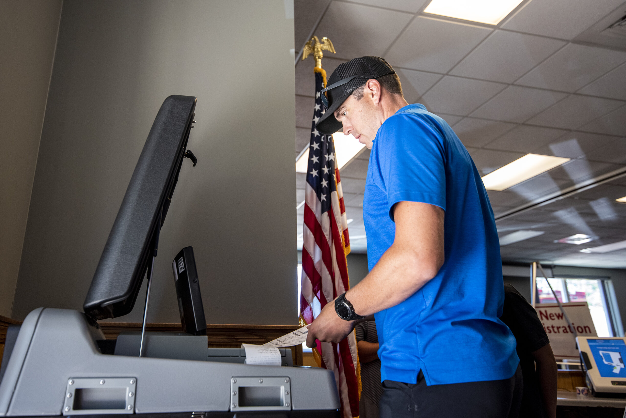
[[[393,211],[394,243],[366,278],[346,293],[358,315],[371,315],[398,305],[434,278],[443,265],[443,209],[403,201]],[[340,342],[354,325],[355,321],[339,318],[334,303],[328,303],[309,327],[307,346],[314,347],[316,338]]]

